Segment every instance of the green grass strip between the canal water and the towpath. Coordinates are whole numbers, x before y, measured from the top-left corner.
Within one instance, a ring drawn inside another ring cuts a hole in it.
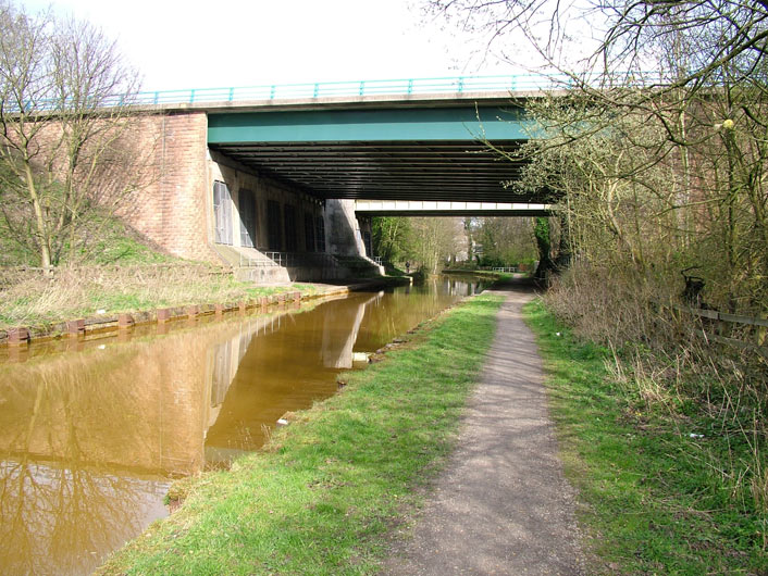
[[[439,466],[491,345],[500,298],[426,323],[183,504],[101,574],[371,574],[398,512]],[[467,335],[472,335],[468,338]]]

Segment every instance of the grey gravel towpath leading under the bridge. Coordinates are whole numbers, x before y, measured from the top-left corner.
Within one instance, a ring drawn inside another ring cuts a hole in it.
[[[542,361],[522,305],[505,296],[494,342],[463,415],[457,449],[425,504],[396,535],[382,574],[579,575],[586,573],[547,410]]]

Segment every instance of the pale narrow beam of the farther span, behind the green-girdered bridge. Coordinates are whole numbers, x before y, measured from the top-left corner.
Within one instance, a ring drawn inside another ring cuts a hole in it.
[[[520,202],[434,202],[426,200],[356,200],[362,216],[548,216],[552,204]]]

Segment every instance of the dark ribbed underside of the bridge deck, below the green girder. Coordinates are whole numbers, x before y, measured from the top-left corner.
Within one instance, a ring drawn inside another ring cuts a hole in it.
[[[495,142],[513,151],[515,141]],[[318,198],[528,201],[504,183],[520,166],[487,146],[457,140],[259,142],[212,147]]]

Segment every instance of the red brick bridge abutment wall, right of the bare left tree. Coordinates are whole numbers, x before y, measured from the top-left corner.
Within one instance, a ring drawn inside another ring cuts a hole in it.
[[[140,122],[143,148],[152,151],[152,177],[123,214],[125,220],[172,254],[219,262],[208,243],[206,113]]]

